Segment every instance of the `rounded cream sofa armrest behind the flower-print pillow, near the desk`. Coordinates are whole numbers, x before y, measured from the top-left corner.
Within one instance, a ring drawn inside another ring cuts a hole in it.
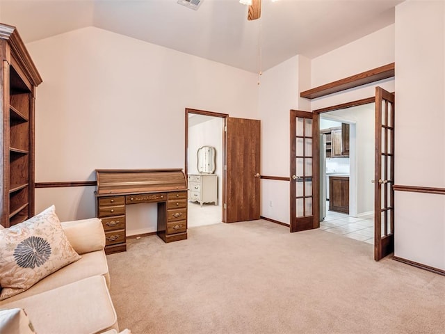
[[[61,222],[68,241],[79,254],[102,250],[105,247],[105,232],[99,218]]]

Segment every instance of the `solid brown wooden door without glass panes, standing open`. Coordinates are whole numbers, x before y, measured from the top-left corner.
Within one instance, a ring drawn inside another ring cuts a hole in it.
[[[252,221],[260,215],[260,121],[227,118],[223,221]]]

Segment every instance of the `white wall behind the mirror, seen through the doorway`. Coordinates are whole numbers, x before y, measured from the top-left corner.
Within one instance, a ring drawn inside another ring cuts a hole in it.
[[[196,116],[195,116],[196,117]],[[209,117],[207,122],[188,127],[188,174],[199,174],[197,171],[197,150],[202,146],[213,146],[216,150],[216,169],[218,175],[218,205],[222,200],[223,184],[223,127],[224,119]],[[190,124],[190,123],[189,123]]]

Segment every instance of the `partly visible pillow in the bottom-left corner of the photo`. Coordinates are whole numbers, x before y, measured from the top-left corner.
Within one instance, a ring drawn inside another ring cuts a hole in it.
[[[0,333],[35,334],[33,324],[21,308],[0,310]]]

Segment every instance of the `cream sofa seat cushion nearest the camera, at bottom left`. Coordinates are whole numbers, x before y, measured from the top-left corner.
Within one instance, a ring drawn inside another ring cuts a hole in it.
[[[103,276],[78,280],[4,306],[24,308],[37,333],[92,334],[118,330],[118,320]]]

